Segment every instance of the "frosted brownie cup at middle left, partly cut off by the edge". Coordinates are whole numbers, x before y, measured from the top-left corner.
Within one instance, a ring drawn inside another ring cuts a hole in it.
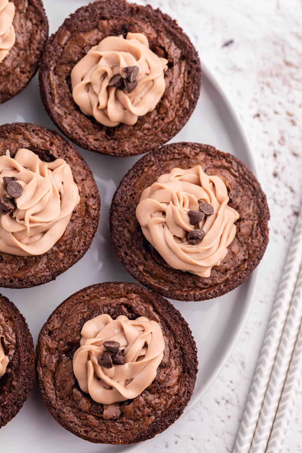
[[[0,156],[0,286],[47,283],[91,245],[100,211],[96,182],[71,143],[33,124],[0,126]],[[14,198],[12,188],[21,185]]]

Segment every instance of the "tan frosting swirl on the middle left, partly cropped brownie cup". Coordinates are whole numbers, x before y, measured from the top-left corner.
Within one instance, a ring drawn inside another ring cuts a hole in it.
[[[80,201],[70,166],[63,159],[43,162],[29,149],[0,157],[0,196],[7,196],[3,176],[15,176],[23,193],[16,209],[0,215],[0,251],[42,255],[60,239]]]

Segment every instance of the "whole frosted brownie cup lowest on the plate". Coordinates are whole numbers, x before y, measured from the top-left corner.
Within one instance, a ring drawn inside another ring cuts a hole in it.
[[[138,284],[102,283],[73,294],[44,324],[38,386],[53,417],[94,443],[151,439],[192,396],[197,350],[181,314]]]

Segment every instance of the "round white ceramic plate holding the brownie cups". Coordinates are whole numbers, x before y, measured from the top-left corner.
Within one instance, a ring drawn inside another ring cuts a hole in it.
[[[64,18],[83,3],[83,0],[44,0],[50,32],[56,31]],[[202,67],[204,78],[197,108],[187,125],[172,141],[196,141],[214,145],[222,151],[235,154],[255,171],[249,146],[235,112],[211,73],[204,64]],[[37,77],[19,96],[0,106],[0,124],[15,121],[33,122],[55,129],[40,101]],[[100,224],[90,250],[53,282],[32,289],[2,291],[24,314],[34,343],[54,308],[77,290],[105,281],[134,281],[117,260],[110,241],[108,217],[115,189],[139,157],[116,158],[79,150],[93,170],[101,195]],[[251,305],[255,282],[254,273],[239,288],[215,300],[200,303],[172,301],[189,323],[198,347],[199,373],[192,400],[185,413],[208,389],[229,356]],[[1,451],[7,453],[109,453],[132,451],[143,446],[94,445],[70,434],[54,421],[44,407],[36,383],[23,409],[1,429],[0,439]]]

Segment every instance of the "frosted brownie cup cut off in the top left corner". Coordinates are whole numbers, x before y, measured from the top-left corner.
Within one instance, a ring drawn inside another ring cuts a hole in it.
[[[48,20],[41,0],[4,0],[0,19],[1,16],[0,103],[3,103],[24,90],[37,72],[48,39]]]

